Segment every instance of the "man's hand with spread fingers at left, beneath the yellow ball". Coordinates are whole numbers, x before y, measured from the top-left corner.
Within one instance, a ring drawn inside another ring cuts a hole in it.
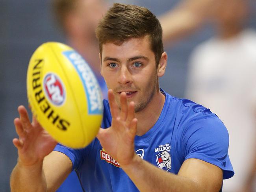
[[[18,111],[20,118],[15,118],[14,124],[19,139],[14,138],[13,144],[18,149],[19,162],[25,166],[41,163],[57,142],[41,127],[34,116],[30,123],[24,106],[19,106]]]

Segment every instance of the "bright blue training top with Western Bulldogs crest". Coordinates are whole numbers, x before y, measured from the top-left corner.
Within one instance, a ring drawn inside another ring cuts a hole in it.
[[[202,105],[163,94],[165,104],[158,121],[143,136],[135,137],[137,155],[173,174],[178,174],[186,159],[201,159],[221,168],[223,179],[232,177],[228,131],[223,122]],[[108,101],[103,104],[102,128],[107,128],[111,126],[111,113]],[[54,151],[70,158],[86,192],[139,191],[97,138],[83,149],[58,144]]]

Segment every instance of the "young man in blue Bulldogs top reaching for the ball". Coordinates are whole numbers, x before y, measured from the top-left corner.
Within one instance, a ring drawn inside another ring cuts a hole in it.
[[[156,17],[114,4],[96,35],[109,88],[97,138],[80,150],[56,146],[20,106],[12,190],[54,191],[75,169],[85,191],[219,191],[234,174],[228,132],[209,109],[159,89],[167,54]]]

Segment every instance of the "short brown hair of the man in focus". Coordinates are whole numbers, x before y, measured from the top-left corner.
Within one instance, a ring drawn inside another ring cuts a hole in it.
[[[158,65],[163,51],[162,28],[159,20],[145,7],[115,3],[96,28],[100,54],[106,42],[122,44],[131,38],[149,36],[150,48]]]

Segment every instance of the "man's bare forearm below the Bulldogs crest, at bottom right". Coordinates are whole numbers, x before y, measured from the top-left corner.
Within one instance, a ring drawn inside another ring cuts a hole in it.
[[[142,192],[205,191],[197,181],[165,172],[138,156],[131,164],[121,167]]]

